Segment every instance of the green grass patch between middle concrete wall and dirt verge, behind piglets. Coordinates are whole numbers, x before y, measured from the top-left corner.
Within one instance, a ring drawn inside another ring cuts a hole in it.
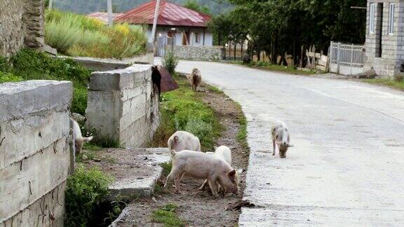
[[[161,96],[161,124],[150,146],[167,146],[168,138],[177,130],[196,135],[203,151],[212,151],[223,128],[210,106],[193,92],[185,78],[175,76],[180,88]]]

